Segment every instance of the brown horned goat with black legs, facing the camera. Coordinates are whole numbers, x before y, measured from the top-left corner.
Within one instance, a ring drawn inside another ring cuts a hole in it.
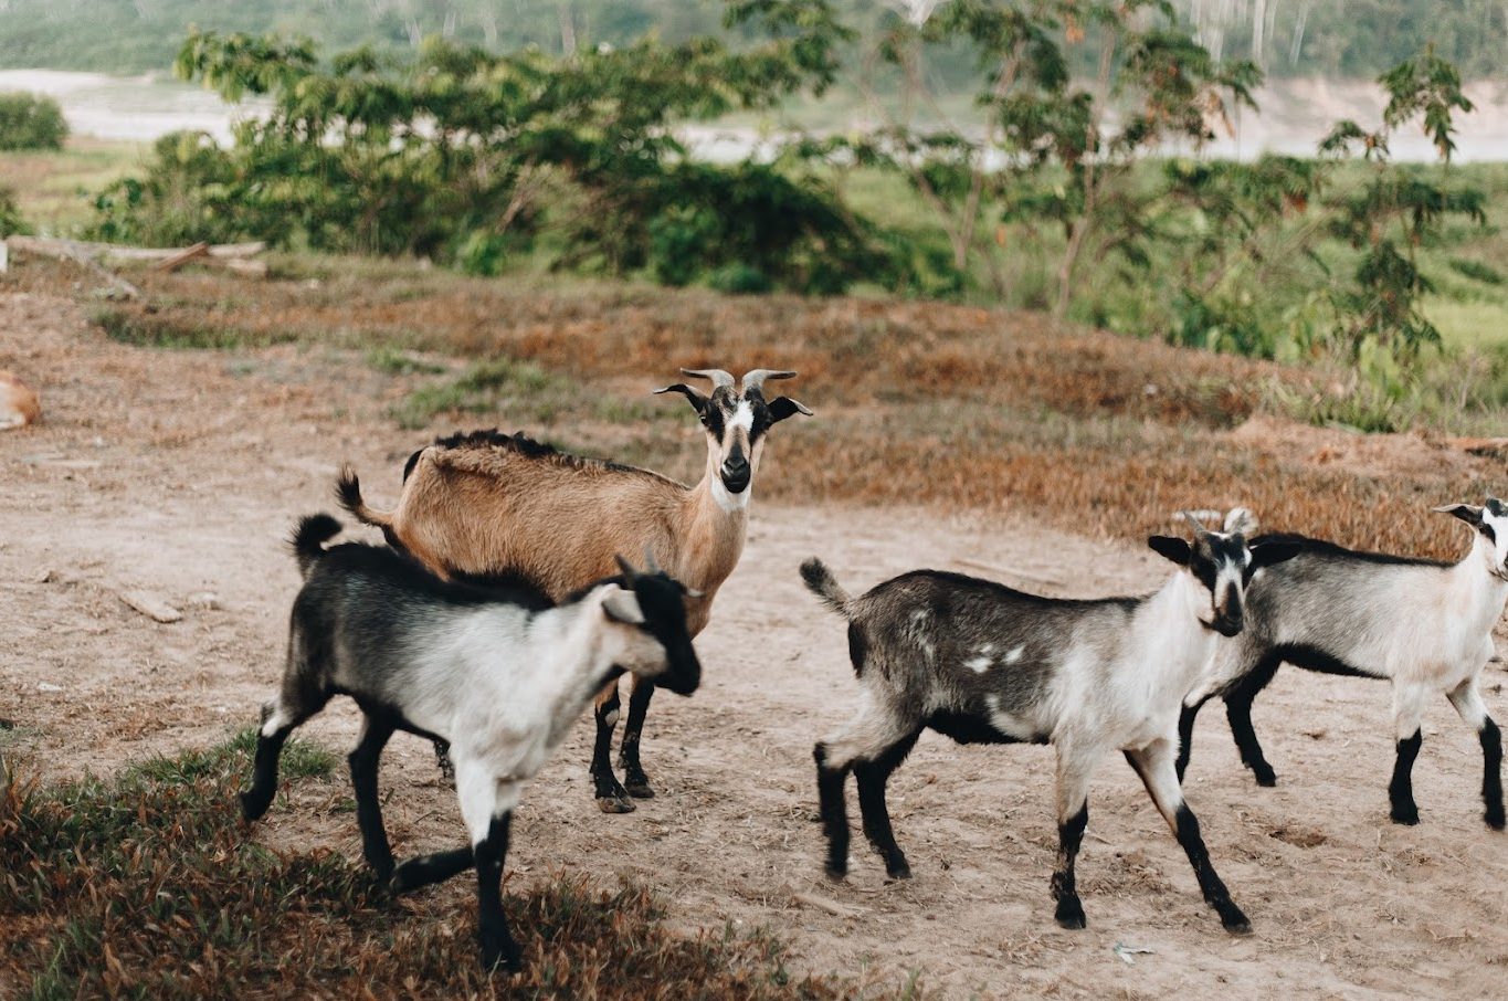
[[[707,464],[694,487],[632,466],[564,455],[522,434],[480,431],[415,452],[391,513],[366,507],[348,467],[338,485],[341,504],[442,576],[516,571],[537,580],[552,598],[611,574],[615,553],[648,547],[667,573],[701,594],[686,608],[695,636],[743,552],[766,433],[811,410],[787,396],[765,401],[766,381],[793,378],[795,372],[754,369],[742,386],[722,369],[682,372],[712,381],[710,395],[685,383],[656,390],[682,393],[701,418]],[[639,760],[654,684],[639,675],[630,675],[629,684],[618,757],[623,784],[611,760],[621,707],[617,680],[596,699],[591,776],[603,813],[630,813],[635,797],[654,796]]]

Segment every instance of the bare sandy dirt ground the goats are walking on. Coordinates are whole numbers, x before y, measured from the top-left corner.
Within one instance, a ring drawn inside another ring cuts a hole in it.
[[[0,368],[24,372],[44,406],[38,427],[0,434],[0,718],[11,724],[0,740],[72,775],[255,722],[297,589],[282,540],[297,516],[333,510],[341,461],[374,502],[394,501],[403,458],[425,440],[382,418],[403,377],[323,348],[122,347],[68,302],[6,292]],[[807,403],[820,412],[820,399]],[[698,440],[688,430],[688,449]],[[762,476],[780,464],[777,428]],[[1390,693],[1377,681],[1279,674],[1256,706],[1273,790],[1240,766],[1221,713],[1203,719],[1188,797],[1250,936],[1220,929],[1119,758],[1102,764],[1090,799],[1089,929],[1060,930],[1047,748],[923,737],[891,782],[915,877],[885,882],[858,838],[847,882],[828,882],[811,745],[847,718],[857,686],[844,630],[804,591],[801,559],[820,555],[851,589],[930,565],[1075,595],[1149,591],[1164,565],[1028,520],[777,507],[754,490],[743,559],[697,641],[704,684],[691,699],[661,693],[650,712],[644,760],[659,797],[600,814],[584,722],[526,793],[510,886],[559,867],[609,885],[636,877],[659,888],[677,926],[765,924],[789,944],[792,969],[896,984],[918,968],[949,998],[1508,990],[1508,841],[1481,822],[1475,734],[1442,698],[1415,770],[1424,822],[1392,825]],[[131,591],[182,620],[134,611],[121,597]],[[1497,719],[1508,718],[1503,678],[1499,665],[1485,678]],[[344,754],[354,733],[354,709],[336,704],[303,736]],[[400,736],[385,763],[398,853],[458,843],[454,793],[428,745]],[[252,837],[357,859],[347,797],[341,775],[297,782]],[[455,880],[418,900],[467,895]]]

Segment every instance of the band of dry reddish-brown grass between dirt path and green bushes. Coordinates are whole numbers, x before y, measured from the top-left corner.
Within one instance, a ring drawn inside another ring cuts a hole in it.
[[[21,280],[56,289],[62,267],[32,267]],[[1268,528],[1449,558],[1464,537],[1428,507],[1502,488],[1499,463],[1415,436],[1324,437],[1282,421],[1232,431],[1270,384],[1321,392],[1312,371],[1033,314],[282,267],[294,273],[259,285],[143,274],[149,302],[112,305],[103,320],[148,344],[297,339],[507,356],[627,398],[670,381],[676,366],[792,368],[801,378],[781,389],[817,418],[778,428],[762,481],[762,496],[792,502],[1024,514],[1122,538],[1169,531],[1181,508],[1241,504]],[[683,470],[671,461],[685,451],[677,430],[647,422],[629,446],[618,434],[614,451]],[[594,448],[588,425],[566,421],[553,437]]]

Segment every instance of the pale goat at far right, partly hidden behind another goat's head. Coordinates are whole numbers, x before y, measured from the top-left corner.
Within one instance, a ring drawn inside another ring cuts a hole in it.
[[[1252,701],[1286,662],[1392,680],[1398,755],[1387,791],[1396,823],[1419,823],[1413,763],[1424,742],[1424,712],[1439,695],[1451,699],[1482,745],[1484,819],[1503,829],[1502,736],[1476,683],[1493,657],[1493,626],[1508,602],[1508,505],[1488,497],[1481,508],[1455,504],[1436,511],[1475,529],[1472,552],[1460,562],[1354,552],[1298,535],[1253,540],[1286,540],[1301,549],[1252,585],[1247,630],[1226,644],[1209,680],[1190,693],[1179,778],[1188,766],[1199,707],[1220,696],[1241,761],[1259,785],[1276,784],[1252,728]]]

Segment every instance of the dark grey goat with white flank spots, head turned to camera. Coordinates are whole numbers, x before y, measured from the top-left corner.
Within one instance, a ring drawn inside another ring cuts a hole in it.
[[[858,715],[816,746],[817,796],[828,838],[828,874],[847,873],[843,785],[852,770],[864,834],[893,879],[911,868],[896,844],[885,782],[921,730],[961,743],[1053,743],[1057,749],[1057,923],[1084,927],[1074,861],[1089,823],[1089,779],[1114,749],[1140,775],[1199,877],[1205,900],[1231,932],[1246,915],[1215,874],[1184,802],[1173,760],[1178,713],[1218,636],[1241,632],[1252,574],[1294,547],[1247,547],[1237,532],[1194,543],[1154,535],[1148,544],[1179,570],[1148,597],[1056,600],[955,573],[917,570],[851,597],[822,562],[801,576],[849,621],[849,653],[863,684]]]

